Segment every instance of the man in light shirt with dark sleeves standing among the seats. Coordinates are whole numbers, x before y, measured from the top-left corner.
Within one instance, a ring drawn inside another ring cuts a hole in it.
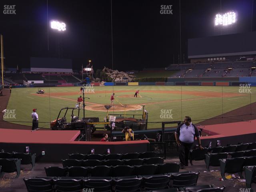
[[[184,122],[179,124],[175,131],[175,139],[179,146],[181,169],[184,169],[184,166],[188,166],[188,154],[194,143],[195,136],[197,138],[199,148],[204,149],[201,146],[200,134],[196,125],[192,124],[191,117],[185,116]]]

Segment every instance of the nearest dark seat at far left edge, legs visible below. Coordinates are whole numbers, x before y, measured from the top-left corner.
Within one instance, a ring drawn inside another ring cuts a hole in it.
[[[4,176],[4,173],[16,172],[16,178],[20,176],[20,159],[0,159],[0,177]]]

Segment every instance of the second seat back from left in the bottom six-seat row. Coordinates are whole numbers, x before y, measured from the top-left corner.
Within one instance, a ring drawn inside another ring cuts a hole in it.
[[[81,180],[57,179],[54,180],[56,192],[80,192],[83,189]]]

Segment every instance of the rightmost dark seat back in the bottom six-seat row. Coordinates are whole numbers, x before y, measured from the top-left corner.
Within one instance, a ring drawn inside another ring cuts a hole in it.
[[[173,180],[173,187],[185,187],[185,186],[196,186],[198,180],[198,173],[182,173],[171,175],[171,180]]]

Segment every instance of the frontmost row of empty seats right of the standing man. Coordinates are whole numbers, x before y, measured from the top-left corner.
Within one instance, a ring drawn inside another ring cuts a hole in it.
[[[230,146],[225,146],[225,147],[208,148],[208,152],[226,153],[226,152],[245,151],[245,150],[251,150],[251,149],[256,149],[256,142],[246,143],[246,144],[238,144],[238,145],[230,145]]]

